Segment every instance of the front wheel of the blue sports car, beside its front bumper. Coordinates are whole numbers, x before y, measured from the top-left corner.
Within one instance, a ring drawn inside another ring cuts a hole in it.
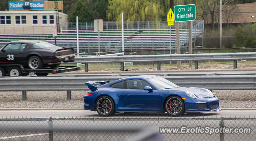
[[[165,102],[166,112],[171,116],[180,116],[184,114],[185,104],[178,96],[170,96]]]

